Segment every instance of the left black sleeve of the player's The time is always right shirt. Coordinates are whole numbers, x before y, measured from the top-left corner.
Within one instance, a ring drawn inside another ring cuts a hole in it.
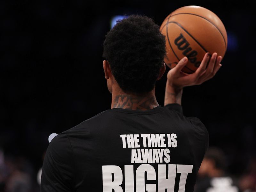
[[[42,169],[41,192],[71,192],[74,186],[73,151],[66,134],[49,144]]]

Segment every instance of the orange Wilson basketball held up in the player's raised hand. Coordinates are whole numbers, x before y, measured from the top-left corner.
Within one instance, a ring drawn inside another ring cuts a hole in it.
[[[212,11],[200,6],[181,7],[163,21],[160,31],[166,37],[165,64],[173,68],[184,57],[182,69],[191,74],[199,67],[205,53],[217,52],[222,58],[228,45],[225,26]]]

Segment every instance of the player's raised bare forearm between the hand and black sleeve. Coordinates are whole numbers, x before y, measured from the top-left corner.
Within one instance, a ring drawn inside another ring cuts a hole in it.
[[[164,106],[172,103],[178,103],[181,105],[182,88],[175,88],[166,82]]]

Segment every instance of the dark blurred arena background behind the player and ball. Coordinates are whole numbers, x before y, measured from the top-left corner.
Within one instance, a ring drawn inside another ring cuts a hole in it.
[[[184,114],[205,124],[210,147],[222,149],[227,172],[242,191],[255,191],[252,3],[24,0],[0,2],[0,192],[38,192],[37,174],[49,135],[110,108],[102,44],[113,17],[141,14],[161,25],[168,14],[186,5],[203,6],[220,17],[228,32],[228,50],[213,79],[184,89]],[[165,81],[156,85],[162,106]]]

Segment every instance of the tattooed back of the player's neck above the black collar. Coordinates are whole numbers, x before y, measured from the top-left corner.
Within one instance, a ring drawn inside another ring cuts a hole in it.
[[[127,94],[121,89],[112,92],[112,108],[148,110],[157,107],[155,88],[146,94]]]

